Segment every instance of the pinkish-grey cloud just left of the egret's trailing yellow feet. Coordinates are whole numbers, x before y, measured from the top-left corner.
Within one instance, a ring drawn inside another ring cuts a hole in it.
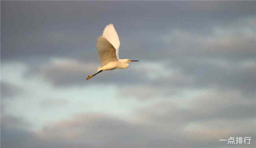
[[[97,65],[83,63],[75,59],[52,59],[41,65],[39,74],[54,85],[83,85],[89,72],[94,72]]]

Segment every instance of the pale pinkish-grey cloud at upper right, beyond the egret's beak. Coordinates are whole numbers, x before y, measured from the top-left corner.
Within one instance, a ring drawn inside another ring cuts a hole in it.
[[[173,29],[163,36],[168,51],[163,56],[215,58],[233,62],[252,60],[256,48],[254,24],[254,17],[246,17],[216,25],[207,34]]]

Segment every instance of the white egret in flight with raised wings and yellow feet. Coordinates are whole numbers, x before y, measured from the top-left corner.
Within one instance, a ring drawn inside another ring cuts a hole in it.
[[[98,58],[102,65],[98,67],[98,71],[86,78],[91,79],[96,74],[104,70],[113,69],[127,69],[130,62],[138,60],[119,59],[118,49],[120,41],[114,25],[111,23],[107,25],[103,31],[103,34],[97,39],[97,52]]]

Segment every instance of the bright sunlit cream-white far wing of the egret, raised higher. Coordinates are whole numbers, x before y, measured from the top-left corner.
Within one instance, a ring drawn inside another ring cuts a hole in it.
[[[113,45],[113,47],[115,48],[115,52],[116,52],[115,54],[117,56],[117,59],[119,59],[118,51],[119,51],[120,41],[119,41],[117,31],[115,31],[115,27],[112,23],[105,27],[102,36],[104,36],[108,40],[108,42],[110,42]]]

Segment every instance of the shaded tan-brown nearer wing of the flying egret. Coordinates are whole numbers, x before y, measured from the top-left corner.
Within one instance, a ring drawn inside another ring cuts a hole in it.
[[[106,65],[111,61],[118,61],[115,47],[104,36],[97,39],[98,58],[102,65]]]

